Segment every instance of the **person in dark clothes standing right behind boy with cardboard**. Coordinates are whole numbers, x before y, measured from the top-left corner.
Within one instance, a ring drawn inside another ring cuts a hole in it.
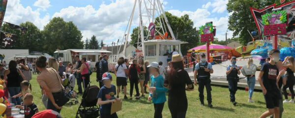
[[[108,55],[103,55],[103,59],[101,59],[101,61],[99,62],[99,73],[100,73],[100,78],[99,79],[100,80],[98,80],[98,81],[99,81],[99,87],[100,88],[103,86],[103,83],[101,81],[102,74],[109,71],[108,59],[109,59]]]

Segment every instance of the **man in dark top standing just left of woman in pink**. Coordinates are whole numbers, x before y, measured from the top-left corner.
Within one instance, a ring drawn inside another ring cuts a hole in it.
[[[80,70],[80,67],[82,65],[82,61],[80,60],[80,56],[76,55],[75,56],[75,60],[76,60],[76,67],[74,70],[74,74],[76,74],[76,79],[77,79],[77,85],[78,85],[78,94],[83,94],[83,90],[82,90],[82,75],[81,73],[76,73],[77,70]]]

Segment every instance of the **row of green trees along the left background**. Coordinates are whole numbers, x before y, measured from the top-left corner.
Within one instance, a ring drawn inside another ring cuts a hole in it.
[[[20,26],[28,30],[24,32],[12,29],[6,23],[2,24],[1,31],[17,35],[13,47],[4,49],[29,49],[29,52],[37,51],[52,55],[57,49],[101,49],[105,45],[102,40],[98,44],[94,35],[85,43],[77,26],[72,21],[65,22],[61,17],[51,19],[43,30],[29,21],[21,23]]]

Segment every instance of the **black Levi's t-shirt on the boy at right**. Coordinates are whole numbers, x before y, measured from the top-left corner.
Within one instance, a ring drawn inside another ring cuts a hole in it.
[[[262,76],[263,85],[267,91],[277,90],[276,78],[279,74],[279,69],[276,65],[271,65],[269,62],[266,62],[262,65],[261,71],[264,72]]]

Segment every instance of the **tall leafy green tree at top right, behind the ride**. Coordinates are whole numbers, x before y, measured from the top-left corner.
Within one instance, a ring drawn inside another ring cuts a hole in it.
[[[288,1],[292,0],[285,2]],[[249,31],[258,30],[249,7],[265,8],[273,3],[279,5],[279,2],[279,0],[229,0],[227,10],[232,15],[229,17],[228,29],[234,31],[233,36],[238,35],[238,40],[242,45],[246,45],[252,40],[247,29]]]

